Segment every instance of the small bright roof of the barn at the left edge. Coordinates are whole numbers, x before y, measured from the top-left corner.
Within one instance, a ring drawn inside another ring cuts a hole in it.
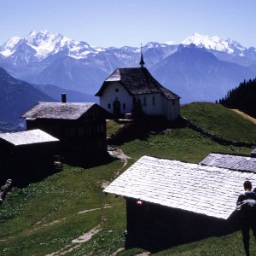
[[[59,142],[55,137],[50,136],[48,133],[39,129],[30,131],[18,131],[0,133],[0,141],[11,143],[14,146],[34,144],[34,143],[52,143]]]

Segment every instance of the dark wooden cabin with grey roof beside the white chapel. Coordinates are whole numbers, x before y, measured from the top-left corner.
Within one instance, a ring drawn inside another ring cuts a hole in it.
[[[26,128],[41,129],[61,141],[64,161],[83,164],[107,155],[106,119],[96,103],[38,102],[23,114]]]

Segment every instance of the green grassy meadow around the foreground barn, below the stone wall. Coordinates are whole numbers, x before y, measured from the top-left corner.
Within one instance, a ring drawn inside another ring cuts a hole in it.
[[[237,119],[241,117],[237,115]],[[114,130],[113,123],[111,127]],[[125,200],[104,195],[102,184],[111,182],[144,154],[197,163],[212,151],[233,154],[251,151],[250,148],[218,145],[189,128],[171,129],[166,134],[125,143],[120,148],[131,156],[127,166],[119,160],[88,169],[64,166],[62,172],[40,183],[13,189],[0,207],[0,254],[112,255],[124,246]],[[73,243],[73,239],[93,228],[98,229],[98,233],[90,241]],[[252,246],[255,252],[256,246]],[[72,250],[67,252],[68,249]],[[118,255],[135,255],[139,251],[131,249]],[[230,256],[241,253],[241,236],[236,232],[173,247],[157,255]]]

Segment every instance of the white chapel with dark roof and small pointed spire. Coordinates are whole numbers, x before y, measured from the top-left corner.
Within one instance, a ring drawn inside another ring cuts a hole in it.
[[[180,96],[162,86],[143,67],[117,68],[105,79],[96,96],[100,105],[115,117],[131,115],[134,101],[141,102],[148,116],[164,116],[173,121],[180,115]]]

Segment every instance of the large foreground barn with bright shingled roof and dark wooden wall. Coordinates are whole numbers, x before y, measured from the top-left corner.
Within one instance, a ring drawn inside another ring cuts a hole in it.
[[[157,251],[236,230],[243,183],[256,173],[143,156],[104,189],[126,200],[126,247]]]

